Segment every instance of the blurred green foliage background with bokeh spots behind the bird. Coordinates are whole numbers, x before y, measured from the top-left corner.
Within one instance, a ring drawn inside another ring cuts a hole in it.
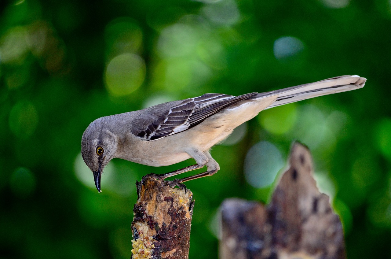
[[[213,148],[219,173],[187,184],[190,258],[217,258],[219,205],[267,201],[295,139],[343,219],[348,257],[391,257],[390,65],[389,0],[2,1],[0,257],[129,258],[135,181],[193,163],[114,159],[98,194],[80,156],[94,119],[344,74],[368,82],[264,111]]]

